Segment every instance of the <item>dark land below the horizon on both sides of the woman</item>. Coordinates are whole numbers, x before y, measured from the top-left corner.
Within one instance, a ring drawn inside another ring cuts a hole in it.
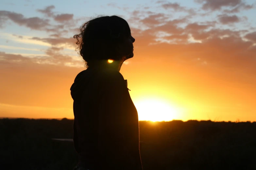
[[[144,170],[256,169],[256,122],[140,121]],[[72,170],[73,120],[0,119],[0,169]]]

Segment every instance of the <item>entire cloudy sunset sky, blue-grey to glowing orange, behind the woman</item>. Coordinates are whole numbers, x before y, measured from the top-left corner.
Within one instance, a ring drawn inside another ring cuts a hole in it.
[[[0,117],[74,118],[73,35],[97,15],[136,39],[120,72],[139,120],[256,121],[255,0],[1,1]]]

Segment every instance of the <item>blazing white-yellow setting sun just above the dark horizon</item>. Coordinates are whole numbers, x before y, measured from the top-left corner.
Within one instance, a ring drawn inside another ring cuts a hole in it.
[[[134,105],[138,111],[139,120],[171,121],[179,114],[177,108],[157,99],[142,100]]]

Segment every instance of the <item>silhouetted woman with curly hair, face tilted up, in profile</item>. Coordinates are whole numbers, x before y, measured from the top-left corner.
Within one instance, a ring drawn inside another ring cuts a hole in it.
[[[142,170],[138,113],[119,73],[133,57],[129,25],[118,16],[104,16],[86,22],[80,31],[74,38],[88,68],[70,89],[79,154],[74,169]]]

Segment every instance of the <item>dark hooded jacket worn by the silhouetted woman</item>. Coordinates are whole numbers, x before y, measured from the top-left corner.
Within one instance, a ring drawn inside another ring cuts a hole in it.
[[[142,170],[138,113],[122,74],[89,67],[70,90],[79,162],[90,170]]]

